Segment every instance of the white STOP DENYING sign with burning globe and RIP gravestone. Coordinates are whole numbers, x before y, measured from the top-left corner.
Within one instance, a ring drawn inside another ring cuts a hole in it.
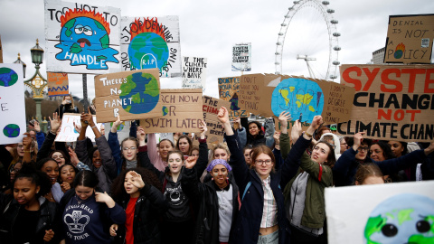
[[[160,77],[181,76],[178,16],[122,17],[122,70],[157,68]]]

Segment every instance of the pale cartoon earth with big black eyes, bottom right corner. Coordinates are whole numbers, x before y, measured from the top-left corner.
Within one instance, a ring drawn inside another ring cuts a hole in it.
[[[368,244],[434,243],[434,200],[400,194],[380,203],[364,228]]]

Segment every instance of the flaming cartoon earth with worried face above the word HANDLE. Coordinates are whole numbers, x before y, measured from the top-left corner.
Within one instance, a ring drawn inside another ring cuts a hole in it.
[[[89,70],[107,70],[106,62],[118,63],[119,52],[109,47],[109,23],[94,11],[69,10],[61,16],[61,49],[56,59],[70,60],[72,66],[86,65]]]

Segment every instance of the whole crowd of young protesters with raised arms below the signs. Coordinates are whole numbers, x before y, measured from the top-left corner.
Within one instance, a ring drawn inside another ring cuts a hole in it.
[[[121,117],[106,139],[89,108],[66,144],[55,138],[68,104],[46,135],[32,120],[22,142],[0,145],[2,243],[327,243],[325,188],[434,179],[434,143],[336,136],[320,115],[289,132],[288,112],[278,128],[222,107],[224,140],[210,148],[203,120],[199,135],[159,141],[126,121],[119,142]]]

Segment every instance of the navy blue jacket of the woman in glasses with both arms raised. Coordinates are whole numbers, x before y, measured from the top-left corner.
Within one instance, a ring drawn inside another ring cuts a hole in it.
[[[236,136],[225,136],[229,150],[231,151],[230,164],[232,172],[238,184],[240,197],[248,183],[250,187],[241,202],[241,210],[237,216],[235,224],[232,224],[230,243],[258,243],[260,220],[262,218],[262,209],[264,206],[264,191],[262,189],[261,180],[255,170],[249,169],[242,155],[241,145],[237,143]],[[305,140],[306,143],[310,141]],[[301,143],[298,144],[304,146]],[[285,211],[285,202],[280,185],[285,187],[289,180],[297,174],[299,164],[288,164],[288,161],[299,161],[304,150],[294,146],[294,153],[288,155],[280,169],[270,175],[270,186],[273,191],[274,198],[278,205],[278,243],[289,243],[290,230],[288,228],[288,220]]]

